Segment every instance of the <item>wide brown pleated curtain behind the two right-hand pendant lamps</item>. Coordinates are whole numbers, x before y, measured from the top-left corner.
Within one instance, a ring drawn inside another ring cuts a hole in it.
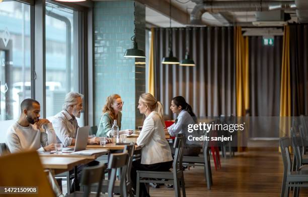
[[[186,28],[155,28],[154,65],[156,97],[173,119],[171,99],[183,96],[197,116],[236,115],[233,27],[189,28],[189,50],[195,67],[162,64],[168,55],[169,31],[173,54],[185,56]]]

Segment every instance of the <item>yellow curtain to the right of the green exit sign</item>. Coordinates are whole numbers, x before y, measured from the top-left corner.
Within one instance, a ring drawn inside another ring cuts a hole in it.
[[[290,85],[290,27],[284,27],[281,82],[280,82],[280,121],[279,136],[288,136],[291,116],[291,85]]]

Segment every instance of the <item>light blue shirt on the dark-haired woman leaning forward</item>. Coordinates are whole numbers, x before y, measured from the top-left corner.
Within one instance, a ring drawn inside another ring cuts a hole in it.
[[[182,129],[186,129],[187,131],[188,124],[195,124],[195,121],[193,120],[191,115],[184,109],[179,113],[177,119],[178,119],[177,123],[173,123],[171,126],[167,128],[170,136],[176,136],[177,134],[184,134],[185,130]]]

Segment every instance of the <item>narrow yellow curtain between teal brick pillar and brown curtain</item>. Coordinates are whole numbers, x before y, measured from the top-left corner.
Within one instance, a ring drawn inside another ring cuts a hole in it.
[[[154,90],[154,29],[151,29],[151,42],[148,56],[148,92],[155,96]]]

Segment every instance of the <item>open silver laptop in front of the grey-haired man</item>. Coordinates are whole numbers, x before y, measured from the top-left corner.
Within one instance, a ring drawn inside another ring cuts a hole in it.
[[[64,148],[63,153],[72,153],[86,150],[89,138],[90,126],[79,127],[75,141],[75,148]]]

